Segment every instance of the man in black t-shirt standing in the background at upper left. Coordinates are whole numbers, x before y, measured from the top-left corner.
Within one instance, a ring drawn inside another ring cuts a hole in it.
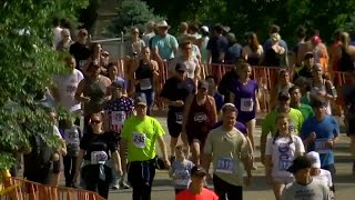
[[[90,57],[91,52],[87,46],[88,31],[85,29],[80,29],[78,33],[78,41],[70,46],[69,52],[77,60],[77,69],[83,70],[87,59]]]

